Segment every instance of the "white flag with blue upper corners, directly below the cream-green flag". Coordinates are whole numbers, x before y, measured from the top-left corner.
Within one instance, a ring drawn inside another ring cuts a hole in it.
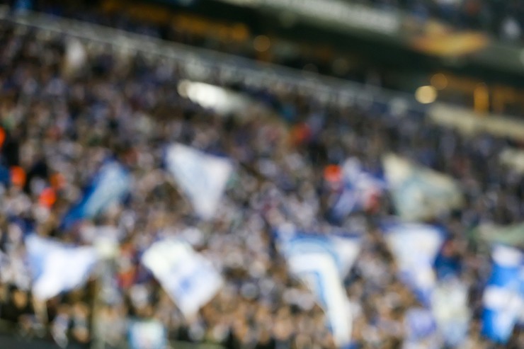
[[[387,246],[397,261],[399,277],[429,305],[435,287],[433,263],[444,242],[444,232],[427,224],[388,223],[383,227]]]

